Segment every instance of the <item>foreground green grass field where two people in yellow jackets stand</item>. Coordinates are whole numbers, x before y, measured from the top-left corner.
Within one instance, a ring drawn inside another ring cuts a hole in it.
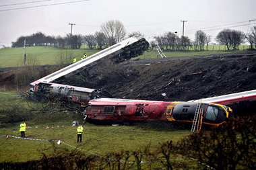
[[[21,103],[26,107],[24,99],[18,97],[17,93],[1,92],[1,103]],[[31,103],[32,104],[32,103]],[[35,104],[35,103],[33,103]],[[0,116],[3,116],[3,108]],[[68,114],[67,114],[68,113]],[[151,130],[142,129],[138,126],[96,126],[87,123],[84,125],[82,143],[77,143],[77,127],[72,126],[73,120],[82,122],[82,116],[71,112],[60,113],[59,119],[37,122],[36,119],[26,122],[26,137],[38,139],[59,139],[71,146],[77,146],[97,155],[118,151],[136,151],[150,145],[151,148],[158,146],[161,142],[172,140],[178,142],[184,136],[191,134],[189,130]],[[73,148],[60,144],[56,148],[49,141],[24,140],[5,137],[6,134],[20,136],[19,126],[21,122],[0,124],[0,162],[21,162],[36,160],[46,155],[53,154],[55,149]],[[49,128],[45,128],[48,126]]]

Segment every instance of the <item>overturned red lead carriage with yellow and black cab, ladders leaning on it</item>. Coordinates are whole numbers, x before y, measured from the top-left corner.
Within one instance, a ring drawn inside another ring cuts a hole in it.
[[[145,120],[193,122],[197,102],[143,101],[100,98],[90,100],[84,116],[93,123],[131,123]],[[201,103],[202,124],[218,126],[233,116],[231,108]]]

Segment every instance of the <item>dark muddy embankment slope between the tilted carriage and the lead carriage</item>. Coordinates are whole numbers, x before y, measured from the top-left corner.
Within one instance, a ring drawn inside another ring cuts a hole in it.
[[[58,83],[116,98],[188,101],[256,89],[256,52],[128,60],[82,75]]]

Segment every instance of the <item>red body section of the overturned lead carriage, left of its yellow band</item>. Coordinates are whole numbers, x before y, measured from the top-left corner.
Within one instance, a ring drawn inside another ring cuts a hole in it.
[[[172,102],[101,98],[90,100],[84,115],[89,122],[94,123],[160,120],[170,103]]]

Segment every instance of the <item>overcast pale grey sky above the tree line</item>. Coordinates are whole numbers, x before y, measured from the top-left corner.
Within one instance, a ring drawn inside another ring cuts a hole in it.
[[[147,39],[165,32],[181,36],[181,20],[187,21],[185,36],[192,40],[197,30],[214,39],[224,28],[248,33],[256,26],[256,0],[78,1],[0,0],[0,44],[11,46],[18,37],[36,32],[65,36],[71,32],[69,23],[75,24],[73,34],[94,34],[112,19],[122,22],[127,33],[139,31]]]

